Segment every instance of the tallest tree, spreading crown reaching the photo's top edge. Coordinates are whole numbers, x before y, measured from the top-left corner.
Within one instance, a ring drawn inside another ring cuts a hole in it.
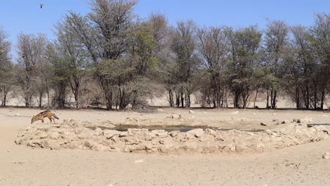
[[[136,1],[129,0],[94,0],[92,12],[87,16],[71,12],[66,17],[71,30],[90,53],[97,70],[102,69],[102,65],[106,63],[116,61],[128,50],[128,36],[132,28],[135,4]],[[106,109],[110,110],[113,105],[114,86],[118,85],[118,82],[104,76],[106,74],[109,73],[95,71],[104,92]]]

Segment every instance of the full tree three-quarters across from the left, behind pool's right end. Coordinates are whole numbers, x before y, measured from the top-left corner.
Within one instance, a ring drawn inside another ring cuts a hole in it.
[[[228,84],[233,93],[234,107],[239,108],[241,102],[245,109],[250,95],[258,86],[255,70],[262,33],[255,26],[240,30],[228,28],[226,32],[231,44]]]

